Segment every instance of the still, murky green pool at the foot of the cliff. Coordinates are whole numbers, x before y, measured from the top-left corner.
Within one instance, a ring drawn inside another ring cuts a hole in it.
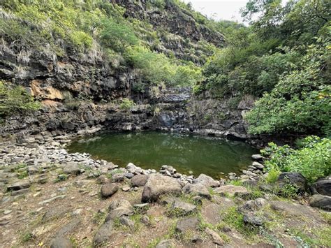
[[[257,152],[242,141],[157,131],[103,133],[75,140],[67,148],[69,152],[88,152],[96,159],[122,167],[131,162],[159,170],[166,164],[179,173],[204,173],[215,178],[223,173],[240,173]]]

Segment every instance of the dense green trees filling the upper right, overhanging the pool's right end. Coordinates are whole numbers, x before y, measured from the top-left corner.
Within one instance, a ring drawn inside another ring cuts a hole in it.
[[[330,1],[250,0],[242,16],[249,27],[219,24],[227,46],[194,92],[260,97],[246,116],[254,134],[330,135]]]

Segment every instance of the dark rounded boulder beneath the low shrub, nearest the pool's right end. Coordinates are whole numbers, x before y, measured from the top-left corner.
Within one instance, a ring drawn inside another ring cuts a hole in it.
[[[292,184],[297,187],[297,193],[303,193],[308,189],[308,182],[306,178],[300,173],[286,172],[281,173],[277,179],[277,184],[280,189],[286,187],[286,184]]]

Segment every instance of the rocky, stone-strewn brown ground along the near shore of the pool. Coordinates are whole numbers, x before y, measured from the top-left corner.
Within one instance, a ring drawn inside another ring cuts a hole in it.
[[[277,184],[266,184],[259,154],[243,175],[214,180],[182,175],[172,166],[159,172],[133,163],[119,168],[66,151],[71,139],[100,130],[1,144],[5,247],[295,247],[311,244],[297,238],[304,237],[295,233],[302,226],[309,227],[304,235],[326,247],[330,178],[312,185],[310,197],[299,173],[281,173]],[[286,191],[288,183],[295,185],[297,200],[274,190]]]

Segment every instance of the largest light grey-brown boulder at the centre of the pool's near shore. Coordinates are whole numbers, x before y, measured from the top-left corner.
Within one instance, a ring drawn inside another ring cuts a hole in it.
[[[142,203],[155,202],[165,194],[181,194],[182,186],[172,177],[149,175],[142,191]]]

